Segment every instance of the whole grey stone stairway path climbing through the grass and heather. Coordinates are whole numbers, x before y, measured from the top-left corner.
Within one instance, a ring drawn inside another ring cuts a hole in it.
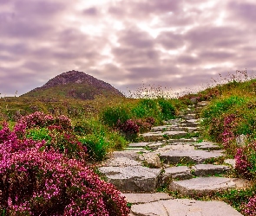
[[[207,163],[225,156],[217,143],[198,143],[198,137],[184,138],[200,130],[198,113],[206,104],[191,106],[181,113],[181,118],[141,134],[144,142],[130,143],[127,149],[115,151],[102,162],[99,171],[132,204],[131,216],[241,215],[221,201],[174,199],[168,194],[156,193],[157,188],[166,187],[185,196],[204,195],[248,185],[246,180],[221,177],[232,168],[227,163],[233,162]]]

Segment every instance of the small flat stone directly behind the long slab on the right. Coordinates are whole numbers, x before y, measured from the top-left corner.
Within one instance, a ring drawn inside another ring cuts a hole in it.
[[[192,169],[194,169],[194,175],[197,176],[220,175],[230,170],[228,166],[213,164],[197,164]]]

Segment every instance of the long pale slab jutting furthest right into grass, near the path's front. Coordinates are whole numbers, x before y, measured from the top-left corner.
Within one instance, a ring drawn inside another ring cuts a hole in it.
[[[226,190],[228,188],[246,187],[247,185],[248,181],[235,178],[198,177],[189,180],[172,181],[169,184],[169,189],[178,191],[183,195],[200,195]]]

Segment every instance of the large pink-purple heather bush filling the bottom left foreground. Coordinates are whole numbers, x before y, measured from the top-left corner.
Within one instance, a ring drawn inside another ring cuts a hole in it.
[[[112,184],[83,160],[44,149],[44,140],[25,138],[25,128],[18,123],[11,131],[3,124],[0,130],[0,214],[128,215],[126,201]]]

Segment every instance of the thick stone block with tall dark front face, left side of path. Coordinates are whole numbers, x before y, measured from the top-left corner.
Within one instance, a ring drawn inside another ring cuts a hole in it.
[[[142,166],[101,167],[99,171],[122,192],[154,192],[161,173],[160,168]]]

